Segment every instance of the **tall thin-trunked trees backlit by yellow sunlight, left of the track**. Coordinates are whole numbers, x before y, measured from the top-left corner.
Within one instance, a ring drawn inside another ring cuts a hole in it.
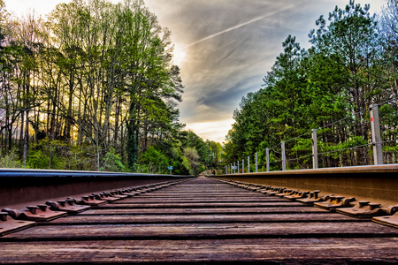
[[[0,0],[0,167],[214,167],[221,145],[179,121],[172,52],[171,32],[142,0],[73,0],[46,19],[14,18]]]

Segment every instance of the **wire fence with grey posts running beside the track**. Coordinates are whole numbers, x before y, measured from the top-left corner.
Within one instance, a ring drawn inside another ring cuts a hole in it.
[[[387,104],[390,102],[395,102],[395,104]],[[295,138],[283,140],[276,146],[265,148],[265,163],[258,163],[256,152],[254,154],[255,166],[252,169],[259,172],[261,170],[301,169],[302,164],[306,165],[304,168],[307,169],[310,166],[318,169],[319,167],[343,166],[347,163],[348,165],[396,163],[398,157],[397,107],[396,100],[372,104],[369,110],[352,113],[349,117],[318,129],[312,129]],[[382,110],[384,115],[381,118],[379,110]],[[333,127],[339,123],[344,123],[347,128],[354,128],[354,130],[370,123],[371,130],[370,133],[361,132],[363,137],[344,137],[344,132],[335,132]],[[246,167],[245,162],[247,162]],[[246,161],[242,159],[241,163],[238,161],[226,165],[225,171],[226,174],[249,173],[250,157],[248,156]]]

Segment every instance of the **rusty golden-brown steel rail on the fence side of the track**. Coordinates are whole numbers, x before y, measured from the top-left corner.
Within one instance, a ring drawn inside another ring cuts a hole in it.
[[[321,190],[321,195],[355,197],[357,201],[379,202],[384,207],[398,204],[398,164],[269,171],[212,177],[303,191]]]

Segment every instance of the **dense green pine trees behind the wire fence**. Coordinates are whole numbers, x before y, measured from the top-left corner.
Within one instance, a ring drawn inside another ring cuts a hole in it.
[[[372,164],[371,104],[379,107],[384,163],[396,163],[398,1],[376,16],[369,4],[350,0],[315,26],[310,49],[288,35],[262,88],[242,97],[226,135],[229,163],[257,153],[264,171],[269,148],[271,170],[281,170],[285,141],[287,169],[312,168],[317,129],[319,167]]]

